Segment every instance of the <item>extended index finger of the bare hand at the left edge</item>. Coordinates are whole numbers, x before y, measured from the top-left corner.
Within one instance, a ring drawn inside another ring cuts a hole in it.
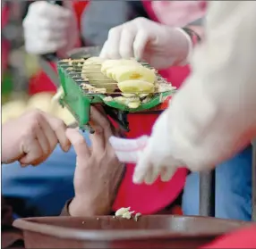
[[[45,116],[47,122],[49,123],[50,127],[54,130],[55,136],[57,137],[61,148],[64,152],[67,152],[70,149],[71,143],[69,139],[66,137],[66,125],[64,124],[63,120],[57,119],[48,113],[42,112]]]

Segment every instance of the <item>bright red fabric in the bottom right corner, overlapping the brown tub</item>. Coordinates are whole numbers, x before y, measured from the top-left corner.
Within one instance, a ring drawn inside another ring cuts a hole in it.
[[[202,248],[256,248],[256,225],[219,237],[211,244],[205,245]]]

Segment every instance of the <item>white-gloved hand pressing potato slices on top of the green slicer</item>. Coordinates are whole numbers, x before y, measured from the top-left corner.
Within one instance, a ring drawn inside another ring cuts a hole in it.
[[[182,65],[192,50],[183,29],[173,29],[145,18],[136,18],[109,30],[100,56],[107,59],[143,59],[156,69]]]

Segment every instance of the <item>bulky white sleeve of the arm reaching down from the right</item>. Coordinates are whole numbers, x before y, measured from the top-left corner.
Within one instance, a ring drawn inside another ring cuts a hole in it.
[[[161,130],[168,154],[191,170],[223,162],[256,137],[256,2],[209,2],[205,32]]]

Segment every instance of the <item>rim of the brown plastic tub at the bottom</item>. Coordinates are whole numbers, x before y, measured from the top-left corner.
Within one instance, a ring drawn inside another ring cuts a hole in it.
[[[151,217],[163,217],[164,215],[150,215]],[[219,221],[228,221],[236,224],[241,224],[242,228],[247,225],[252,225],[252,222],[248,221],[241,221],[241,220],[226,220],[226,219],[219,219],[214,217],[202,217],[202,216],[180,216],[180,215],[165,215],[166,217],[173,217],[173,218],[180,218],[180,219],[215,219]],[[109,218],[110,216],[95,216],[95,217],[73,217],[75,219],[100,219],[100,218]],[[55,225],[47,225],[42,223],[33,222],[33,220],[45,220],[46,218],[57,219],[57,218],[66,218],[70,219],[70,217],[33,217],[33,218],[23,218],[13,221],[13,227],[20,228],[22,230],[37,232],[40,234],[44,234],[47,236],[54,236],[54,237],[61,237],[67,239],[77,239],[77,240],[90,240],[90,241],[112,241],[112,240],[134,240],[134,239],[146,239],[146,238],[194,238],[194,237],[218,237],[223,235],[224,231],[219,232],[202,232],[200,235],[198,233],[193,232],[186,232],[186,233],[179,233],[179,232],[171,232],[167,231],[166,229],[111,229],[111,230],[83,230],[79,228],[62,228]],[[230,229],[231,230],[235,230]],[[125,232],[124,232],[125,231]],[[229,232],[229,231],[226,231]]]

